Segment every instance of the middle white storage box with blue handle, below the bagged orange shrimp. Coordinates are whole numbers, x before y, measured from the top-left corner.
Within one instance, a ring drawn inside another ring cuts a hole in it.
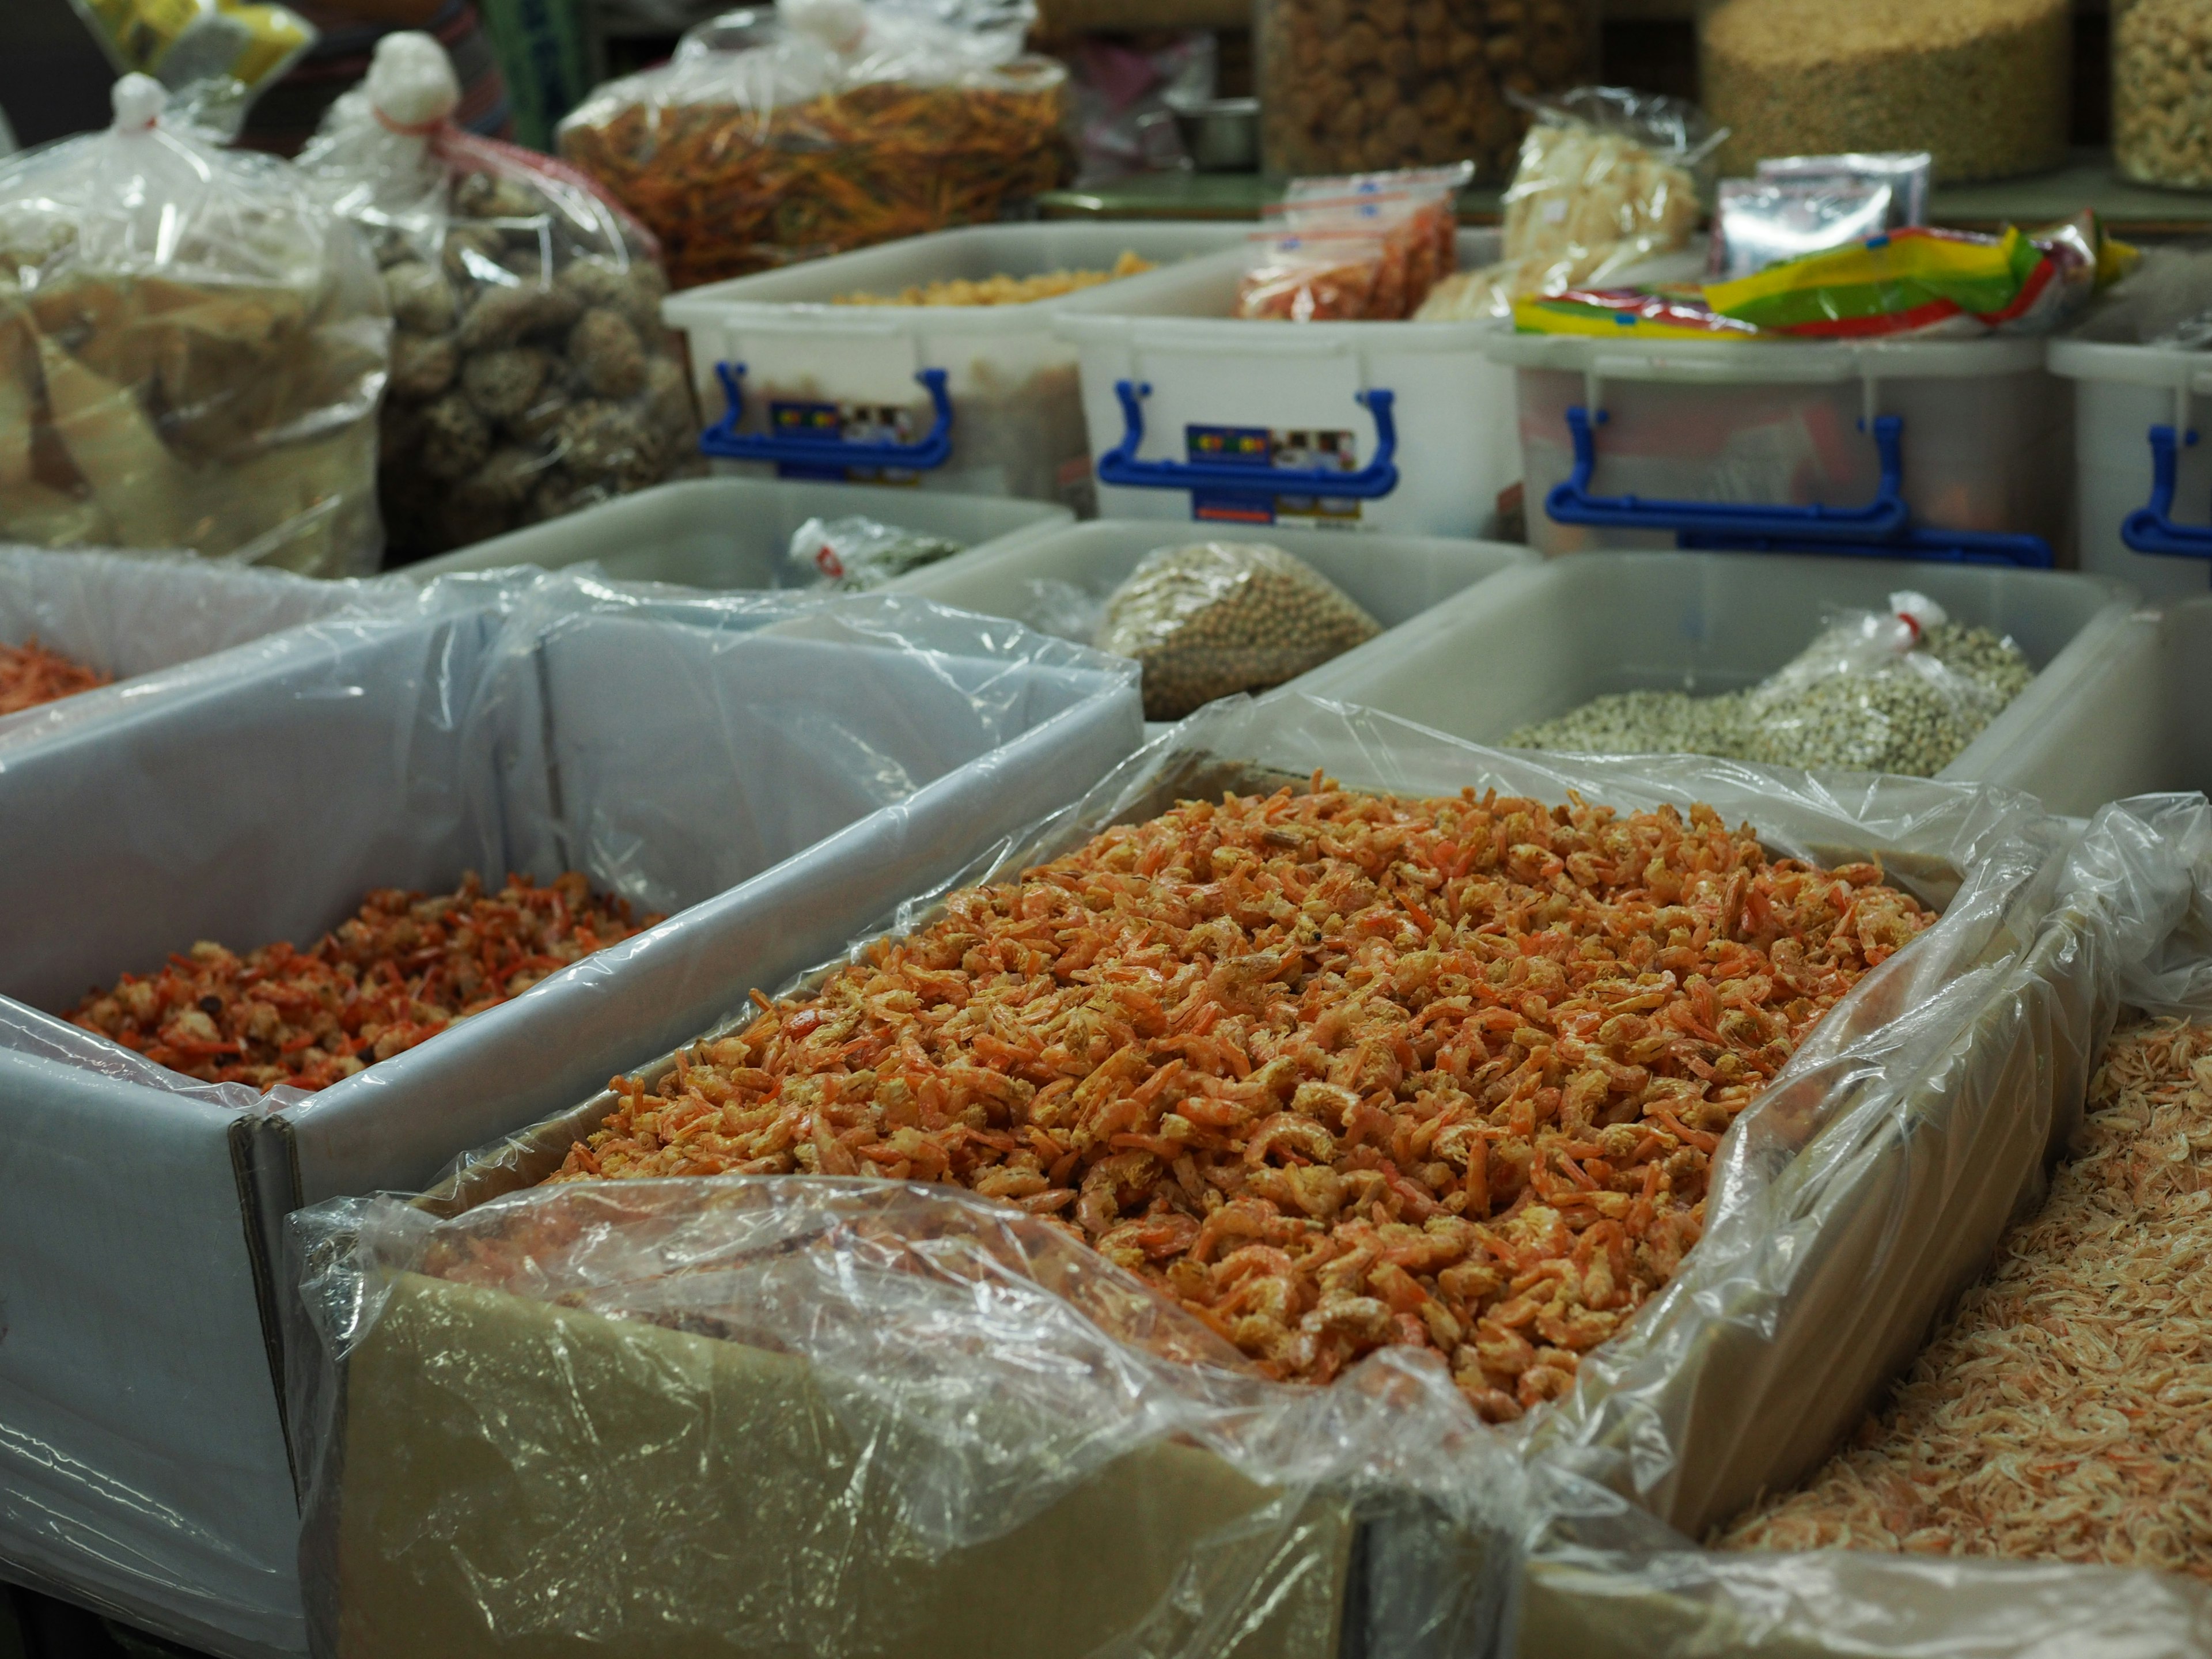
[[[1460,232],[1462,270],[1498,259]],[[1234,316],[1245,250],[1075,294],[1104,518],[1486,535],[1520,476],[1498,321],[1279,323]]]

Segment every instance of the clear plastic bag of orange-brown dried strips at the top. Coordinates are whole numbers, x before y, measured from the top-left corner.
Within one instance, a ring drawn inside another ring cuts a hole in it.
[[[1068,73],[1024,4],[803,0],[701,24],[608,82],[560,153],[615,192],[677,288],[991,221],[1073,175]]]

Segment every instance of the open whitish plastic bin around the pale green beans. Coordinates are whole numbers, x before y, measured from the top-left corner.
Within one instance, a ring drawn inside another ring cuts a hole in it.
[[[1940,776],[2004,783],[2053,812],[2161,787],[2152,635],[2130,588],[2070,571],[1743,553],[1586,553],[1504,575],[1301,684],[1478,743],[1606,692],[1736,690],[1836,608],[1920,588],[2011,635],[2035,679]]]

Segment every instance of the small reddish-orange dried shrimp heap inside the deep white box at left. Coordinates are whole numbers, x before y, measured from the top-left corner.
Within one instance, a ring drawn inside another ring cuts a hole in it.
[[[633,927],[628,902],[593,898],[575,872],[546,887],[509,876],[489,898],[471,872],[438,898],[378,887],[305,951],[201,940],[69,1018],[201,1082],[327,1088],[657,920]]]

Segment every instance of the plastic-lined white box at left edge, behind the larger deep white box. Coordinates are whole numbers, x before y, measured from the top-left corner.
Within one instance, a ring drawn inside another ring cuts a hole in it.
[[[0,641],[38,639],[113,681],[0,717],[0,748],[84,719],[144,708],[252,657],[232,646],[343,613],[414,611],[392,582],[316,582],[188,555],[0,546]]]

